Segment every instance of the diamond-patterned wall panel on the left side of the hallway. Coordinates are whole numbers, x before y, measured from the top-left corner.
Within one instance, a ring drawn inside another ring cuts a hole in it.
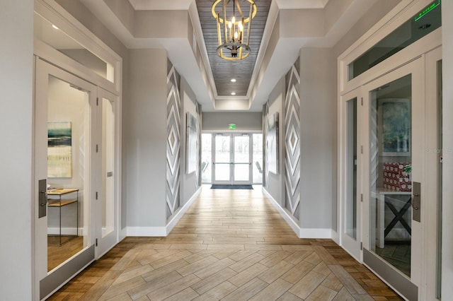
[[[180,94],[179,75],[173,65],[168,62],[170,70],[167,76],[167,172],[166,172],[166,203],[167,218],[179,207],[180,184]]]

